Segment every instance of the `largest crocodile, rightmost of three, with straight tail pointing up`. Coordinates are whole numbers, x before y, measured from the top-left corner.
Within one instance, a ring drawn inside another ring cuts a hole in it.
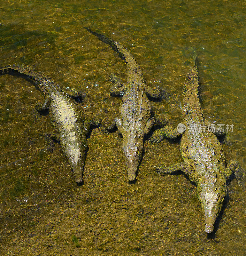
[[[189,180],[196,184],[197,197],[200,201],[205,220],[205,232],[211,233],[214,223],[227,196],[227,180],[234,173],[236,178],[240,164],[234,160],[227,164],[217,136],[225,135],[222,129],[204,119],[199,93],[197,58],[190,68],[184,83],[182,118],[177,128],[167,125],[156,130],[150,141],[155,143],[164,137],[176,139],[181,137],[180,151],[183,162],[166,167],[155,165],[158,173],[171,174],[182,171]],[[187,129],[186,129],[187,128]]]

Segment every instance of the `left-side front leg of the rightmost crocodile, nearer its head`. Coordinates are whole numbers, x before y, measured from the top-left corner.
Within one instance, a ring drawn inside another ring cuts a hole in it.
[[[161,164],[155,165],[155,172],[158,173],[165,173],[165,174],[172,174],[177,171],[182,171],[188,178],[194,183],[197,183],[197,174],[195,170],[191,167],[191,165],[186,164],[184,162],[173,164],[168,167],[165,167]]]

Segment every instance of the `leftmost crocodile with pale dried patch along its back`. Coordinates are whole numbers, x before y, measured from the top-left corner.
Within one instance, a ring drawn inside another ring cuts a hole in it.
[[[62,151],[74,172],[75,182],[81,184],[87,150],[86,135],[91,125],[99,126],[101,122],[100,120],[84,121],[83,112],[75,98],[84,98],[85,94],[75,90],[65,93],[50,78],[28,68],[0,67],[0,75],[4,74],[23,76],[44,96],[44,103],[37,103],[35,106],[35,119],[40,116],[40,112],[49,110],[50,121],[56,132],[45,134],[50,144],[48,149],[53,150],[54,140],[60,142]]]

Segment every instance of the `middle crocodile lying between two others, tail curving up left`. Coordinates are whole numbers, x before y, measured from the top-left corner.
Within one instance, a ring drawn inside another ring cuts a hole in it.
[[[119,116],[103,132],[109,133],[115,126],[117,127],[123,137],[122,151],[127,166],[128,180],[134,181],[142,159],[144,136],[155,124],[161,127],[167,124],[165,120],[151,117],[152,108],[147,98],[147,96],[160,98],[162,94],[158,88],[152,89],[146,84],[137,61],[126,47],[107,36],[98,34],[89,28],[86,29],[102,42],[109,44],[127,64],[127,83],[123,84],[121,78],[115,74],[110,75],[110,81],[114,84],[110,89],[110,94],[124,96],[120,103]]]

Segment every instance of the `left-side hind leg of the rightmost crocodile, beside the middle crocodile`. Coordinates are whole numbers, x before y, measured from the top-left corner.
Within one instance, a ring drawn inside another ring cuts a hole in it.
[[[164,138],[167,139],[176,139],[183,135],[184,132],[178,132],[177,127],[172,130],[170,126],[165,126],[160,129],[157,129],[155,132],[153,132],[153,135],[150,137],[150,142],[156,143],[160,142]]]

